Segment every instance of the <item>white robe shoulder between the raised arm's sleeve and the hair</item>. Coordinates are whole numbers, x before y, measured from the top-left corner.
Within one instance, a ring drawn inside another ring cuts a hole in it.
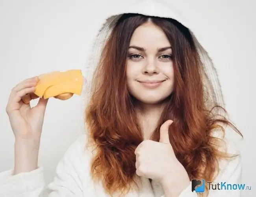
[[[51,192],[62,194],[61,196],[82,196],[85,187],[91,186],[92,154],[86,148],[86,144],[87,137],[83,134],[69,146],[59,161],[54,181],[48,185],[44,196],[48,196]]]

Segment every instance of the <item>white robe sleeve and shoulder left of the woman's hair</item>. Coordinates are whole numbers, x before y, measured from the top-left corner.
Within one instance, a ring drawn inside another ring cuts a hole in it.
[[[13,169],[0,173],[0,197],[82,197],[81,157],[85,135],[64,154],[56,168],[54,181],[45,187],[43,168],[13,175]]]

